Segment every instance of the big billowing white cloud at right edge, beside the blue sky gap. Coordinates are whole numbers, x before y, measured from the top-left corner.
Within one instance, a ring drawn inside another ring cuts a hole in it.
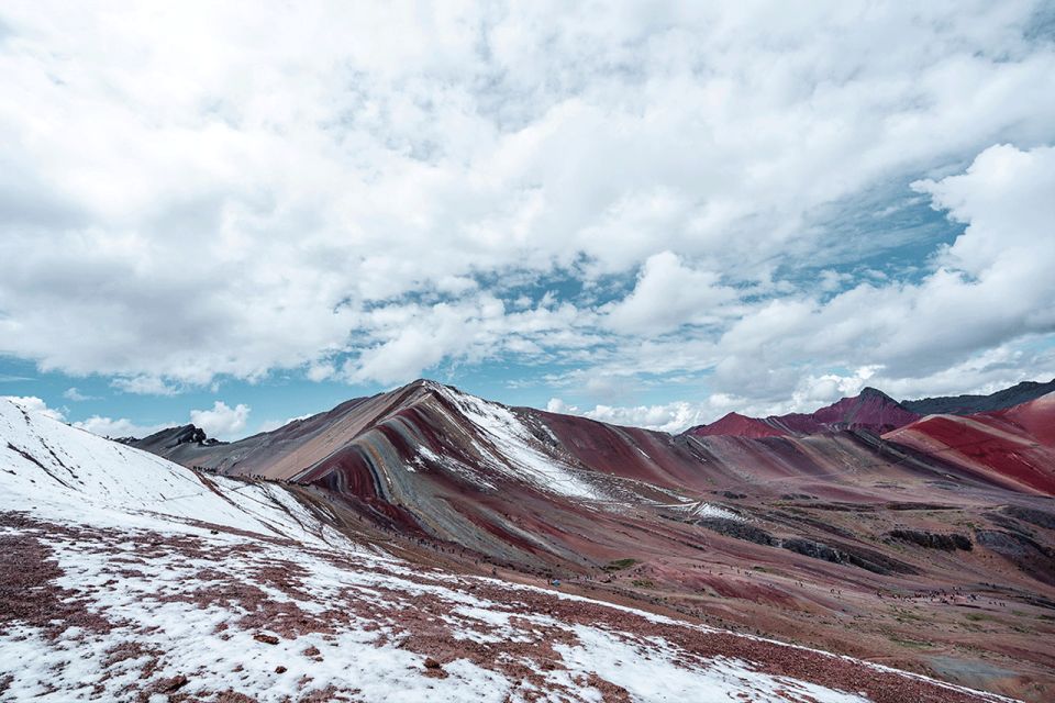
[[[733,324],[723,348],[921,377],[1055,330],[1055,148],[995,146],[963,175],[914,187],[967,224],[922,281],[862,283],[823,304],[774,301]]]

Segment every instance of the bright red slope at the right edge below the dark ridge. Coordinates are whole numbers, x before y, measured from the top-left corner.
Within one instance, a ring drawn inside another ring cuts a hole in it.
[[[930,415],[884,435],[991,483],[1055,495],[1055,393],[976,415]]]

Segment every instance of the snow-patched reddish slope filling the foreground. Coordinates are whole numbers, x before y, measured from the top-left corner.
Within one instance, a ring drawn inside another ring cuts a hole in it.
[[[0,699],[995,700],[423,569],[324,517],[0,400]]]

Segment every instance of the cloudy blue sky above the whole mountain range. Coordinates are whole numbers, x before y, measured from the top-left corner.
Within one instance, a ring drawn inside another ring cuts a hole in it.
[[[0,76],[0,395],[99,434],[1055,377],[1051,2],[15,0]]]

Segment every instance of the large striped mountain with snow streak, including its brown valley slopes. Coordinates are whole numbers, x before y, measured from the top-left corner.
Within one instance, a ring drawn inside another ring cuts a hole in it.
[[[902,419],[866,392],[814,419],[822,433],[668,435],[420,380],[240,442],[158,451],[315,496],[414,559],[559,578],[571,593],[1043,700],[1055,676],[1030,641],[1055,634],[1051,500],[877,434]],[[984,635],[960,626],[975,609]]]

